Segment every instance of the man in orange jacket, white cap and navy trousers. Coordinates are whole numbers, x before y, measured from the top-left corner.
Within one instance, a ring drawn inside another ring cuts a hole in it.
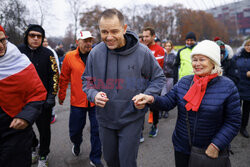
[[[66,54],[59,79],[59,104],[63,104],[66,96],[68,83],[71,82],[71,108],[69,118],[70,140],[73,143],[72,153],[74,156],[80,154],[82,143],[82,131],[86,124],[88,112],[91,126],[91,152],[90,164],[95,167],[102,167],[101,163],[101,142],[99,139],[99,125],[96,120],[94,103],[87,100],[86,94],[82,91],[81,76],[85,70],[88,54],[92,49],[93,36],[89,31],[80,31],[77,34],[76,50]]]

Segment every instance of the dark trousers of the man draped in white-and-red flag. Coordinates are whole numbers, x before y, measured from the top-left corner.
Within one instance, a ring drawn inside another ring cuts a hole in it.
[[[30,167],[32,128],[9,128],[12,118],[0,108],[0,166]]]

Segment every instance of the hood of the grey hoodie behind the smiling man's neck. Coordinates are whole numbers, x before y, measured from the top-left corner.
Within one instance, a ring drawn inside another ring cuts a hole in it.
[[[126,50],[123,51],[117,51],[116,49],[114,50],[109,50],[111,53],[117,54],[117,55],[121,55],[121,56],[126,56],[128,54],[133,53],[136,48],[139,46],[139,38],[138,36],[132,32],[127,30],[126,34],[127,37],[126,38],[130,38],[129,40],[126,40],[126,46],[128,46],[128,48]],[[127,43],[129,42],[129,43]]]

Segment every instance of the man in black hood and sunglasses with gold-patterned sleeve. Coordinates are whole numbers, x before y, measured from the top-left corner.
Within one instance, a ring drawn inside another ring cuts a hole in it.
[[[37,73],[42,80],[48,94],[46,101],[42,107],[41,115],[36,120],[36,125],[40,134],[40,166],[48,166],[48,154],[50,152],[50,120],[52,107],[55,105],[55,96],[58,90],[58,67],[53,53],[42,46],[45,37],[45,31],[40,25],[31,24],[25,31],[24,44],[19,46],[19,50],[26,54],[30,61],[34,64]],[[32,163],[36,163],[38,140],[34,133]]]

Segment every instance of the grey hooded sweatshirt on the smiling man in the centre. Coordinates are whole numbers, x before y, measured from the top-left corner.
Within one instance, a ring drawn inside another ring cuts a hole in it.
[[[82,75],[83,91],[94,102],[99,91],[107,94],[104,108],[97,107],[100,126],[120,129],[144,117],[147,107],[138,110],[131,100],[139,93],[160,94],[165,77],[161,67],[147,46],[140,44],[131,31],[134,46],[117,52],[101,42],[91,50]],[[136,41],[135,41],[136,40]]]

